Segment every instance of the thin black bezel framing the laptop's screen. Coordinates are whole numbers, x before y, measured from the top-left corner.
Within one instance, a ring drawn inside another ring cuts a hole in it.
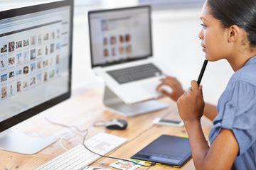
[[[120,60],[117,62],[109,62],[105,64],[93,64],[93,52],[92,52],[92,35],[91,35],[91,24],[90,24],[90,15],[94,13],[105,13],[110,11],[122,11],[122,10],[129,10],[129,9],[137,9],[137,8],[149,8],[149,40],[150,40],[150,53],[149,55],[144,56],[134,56],[132,59],[127,60]],[[88,11],[88,26],[89,26],[89,38],[90,38],[90,59],[91,59],[91,67],[107,67],[112,66],[115,64],[122,64],[126,62],[134,62],[137,60],[144,60],[149,57],[153,57],[153,45],[152,45],[152,28],[151,28],[151,6],[143,5],[143,6],[130,6],[125,8],[112,8],[112,9],[103,9],[103,10],[95,10],[95,11]]]

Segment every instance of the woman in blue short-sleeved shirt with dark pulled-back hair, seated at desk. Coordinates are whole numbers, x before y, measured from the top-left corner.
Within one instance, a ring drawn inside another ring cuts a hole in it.
[[[206,59],[228,60],[235,72],[217,109],[204,103],[202,86],[196,81],[185,93],[174,77],[166,77],[158,87],[177,101],[196,169],[256,169],[255,9],[255,0],[208,0],[203,6],[199,38]],[[201,128],[202,115],[213,120],[210,147]]]

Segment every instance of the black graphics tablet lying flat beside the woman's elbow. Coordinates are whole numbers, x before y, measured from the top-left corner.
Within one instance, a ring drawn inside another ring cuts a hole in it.
[[[191,158],[191,149],[188,138],[161,135],[131,158],[171,166],[182,166]]]

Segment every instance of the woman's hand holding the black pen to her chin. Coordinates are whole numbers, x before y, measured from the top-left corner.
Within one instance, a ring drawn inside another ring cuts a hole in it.
[[[203,101],[202,86],[198,87],[195,80],[191,81],[191,87],[177,101],[178,114],[186,124],[187,122],[198,121],[203,116]]]

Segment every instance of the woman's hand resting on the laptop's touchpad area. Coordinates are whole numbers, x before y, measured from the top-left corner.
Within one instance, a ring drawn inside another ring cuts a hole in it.
[[[169,96],[174,101],[177,101],[178,98],[184,94],[185,91],[182,89],[181,83],[176,78],[166,77],[165,79],[161,79],[161,81],[162,83],[157,86],[156,90],[166,96]],[[172,92],[162,89],[162,86],[169,86],[172,89]]]

